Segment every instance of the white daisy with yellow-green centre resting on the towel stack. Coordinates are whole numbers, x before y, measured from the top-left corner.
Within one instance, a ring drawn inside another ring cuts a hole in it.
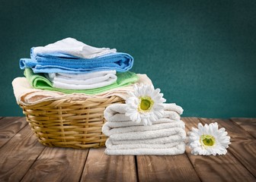
[[[163,94],[160,89],[152,85],[134,85],[134,92],[130,92],[126,99],[126,116],[136,123],[152,125],[164,115]]]

